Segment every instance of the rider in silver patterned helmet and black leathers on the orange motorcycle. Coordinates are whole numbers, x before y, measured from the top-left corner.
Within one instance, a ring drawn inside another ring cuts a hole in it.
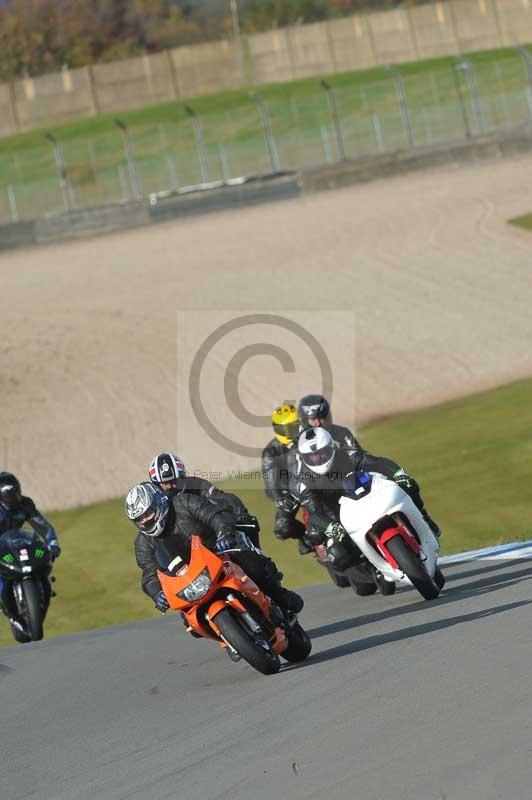
[[[231,559],[283,609],[297,614],[303,608],[303,598],[281,585],[282,576],[274,562],[238,529],[238,517],[229,503],[187,493],[169,498],[146,481],[129,491],[125,511],[138,529],[135,556],[142,570],[142,590],[162,613],[169,606],[157,577],[157,541],[170,536],[190,539],[193,534],[216,553],[230,550]]]

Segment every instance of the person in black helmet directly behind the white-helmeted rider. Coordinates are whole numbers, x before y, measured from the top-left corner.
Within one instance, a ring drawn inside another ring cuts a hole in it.
[[[298,405],[299,417],[303,427],[323,428],[327,430],[337,448],[346,448],[350,457],[356,462],[355,469],[366,472],[380,472],[386,478],[391,478],[398,486],[403,489],[419,508],[425,521],[428,523],[435,536],[440,536],[440,528],[429,516],[423,500],[418,482],[412,478],[403,467],[396,464],[390,458],[374,456],[364,450],[360,442],[355,438],[348,428],[335,425],[332,421],[331,406],[328,400],[321,394],[307,394],[302,397]],[[353,467],[351,467],[351,471]],[[341,482],[340,482],[341,483]]]

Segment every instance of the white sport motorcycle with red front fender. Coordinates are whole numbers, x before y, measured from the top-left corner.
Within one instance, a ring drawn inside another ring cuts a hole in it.
[[[425,600],[437,597],[445,583],[439,542],[406,492],[383,475],[361,471],[344,481],[344,491],[340,522],[379,583],[389,585],[383,594],[406,578]]]

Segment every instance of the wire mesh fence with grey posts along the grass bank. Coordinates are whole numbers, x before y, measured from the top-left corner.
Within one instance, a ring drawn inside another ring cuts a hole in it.
[[[0,221],[125,203],[165,191],[304,169],[405,148],[459,142],[532,125],[532,58],[514,48],[496,61],[458,57],[434,71],[393,67],[371,83],[337,76],[236,99],[177,123],[128,128],[0,158]]]

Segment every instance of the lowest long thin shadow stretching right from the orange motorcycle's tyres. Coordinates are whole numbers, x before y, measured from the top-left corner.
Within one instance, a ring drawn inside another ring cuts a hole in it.
[[[503,606],[493,606],[492,608],[482,609],[482,611],[474,611],[471,614],[462,614],[462,616],[459,617],[453,616],[440,620],[431,620],[422,625],[409,625],[407,628],[401,628],[398,631],[367,636],[365,639],[358,639],[355,642],[348,642],[347,644],[341,644],[337,647],[330,647],[328,650],[323,650],[321,653],[311,655],[307,661],[284,668],[283,672],[291,669],[308,669],[308,667],[311,667],[313,664],[320,664],[324,661],[342,658],[342,656],[360,653],[363,650],[371,650],[374,647],[382,647],[382,645],[399,642],[403,639],[423,636],[426,633],[443,630],[444,628],[451,628],[454,625],[462,625],[465,622],[473,622],[474,620],[492,617],[495,614],[501,614],[504,611],[512,611],[515,608],[521,608],[531,604],[532,600],[519,600],[515,603],[507,603]]]

